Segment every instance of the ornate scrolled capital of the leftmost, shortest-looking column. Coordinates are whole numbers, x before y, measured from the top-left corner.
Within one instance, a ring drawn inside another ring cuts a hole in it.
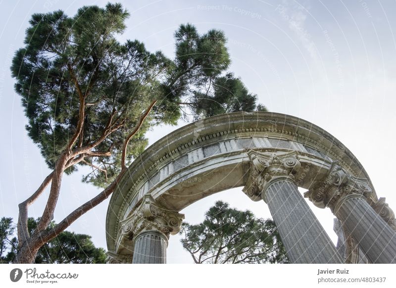
[[[183,219],[184,214],[160,206],[146,194],[135,212],[121,222],[122,234],[132,240],[142,231],[158,230],[169,239],[169,234],[176,235],[180,231]]]

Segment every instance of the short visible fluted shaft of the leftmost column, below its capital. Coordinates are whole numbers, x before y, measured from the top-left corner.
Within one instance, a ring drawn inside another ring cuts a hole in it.
[[[163,233],[156,230],[146,230],[135,239],[134,264],[165,264],[168,240]]]

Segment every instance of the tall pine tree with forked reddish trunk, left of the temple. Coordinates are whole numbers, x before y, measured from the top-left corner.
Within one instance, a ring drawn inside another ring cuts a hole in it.
[[[128,16],[118,3],[84,6],[72,17],[61,10],[33,14],[25,46],[15,52],[11,72],[26,129],[53,170],[19,205],[18,262],[33,261],[41,245],[107,198],[155,125],[262,108],[240,79],[222,76],[230,65],[222,31],[200,34],[191,24],[180,25],[175,55],[168,58],[138,40],[117,40]],[[213,101],[214,108],[207,104]],[[82,180],[103,191],[47,230],[62,176],[78,165],[91,169]],[[47,204],[30,233],[28,207],[48,186]]]

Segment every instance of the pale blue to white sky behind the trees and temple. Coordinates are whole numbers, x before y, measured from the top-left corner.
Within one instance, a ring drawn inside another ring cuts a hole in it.
[[[49,173],[38,148],[27,137],[20,98],[9,73],[13,52],[23,46],[32,13],[56,9],[74,15],[82,5],[107,1],[0,1],[0,217],[17,218],[17,204]],[[173,33],[190,22],[201,33],[222,29],[232,57],[230,70],[270,111],[291,114],[324,128],[363,164],[378,196],[396,210],[395,1],[121,1],[131,12],[121,37],[139,39],[151,51],[173,55]],[[279,4],[281,3],[281,4]],[[208,7],[208,5],[210,5]],[[185,123],[180,123],[185,125]],[[177,127],[149,133],[150,144]],[[64,178],[55,211],[59,221],[98,191],[80,183],[81,174]],[[40,216],[45,195],[29,210]],[[268,217],[263,202],[252,202],[241,189],[221,192],[186,208],[186,221],[198,223],[215,199]],[[108,201],[81,217],[70,230],[93,236],[105,246]],[[311,206],[312,207],[312,206]],[[333,240],[329,210],[312,207]],[[168,262],[191,262],[178,237],[171,237]]]

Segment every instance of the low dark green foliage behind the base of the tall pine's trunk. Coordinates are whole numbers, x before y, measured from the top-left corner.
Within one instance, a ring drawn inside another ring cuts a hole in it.
[[[28,229],[32,233],[37,228],[38,219],[28,219]],[[52,222],[48,229],[55,224]],[[11,263],[18,252],[18,240],[14,236],[15,225],[12,218],[2,217],[0,220],[0,261]],[[38,251],[34,263],[105,263],[106,255],[103,248],[95,247],[91,236],[63,231],[56,238],[44,244]]]

